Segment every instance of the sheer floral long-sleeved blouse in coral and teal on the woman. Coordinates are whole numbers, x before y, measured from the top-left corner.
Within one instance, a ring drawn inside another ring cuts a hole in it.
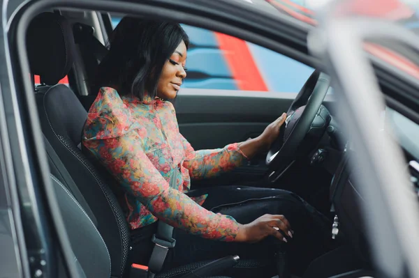
[[[193,150],[179,133],[172,103],[121,98],[103,87],[89,110],[83,144],[123,187],[131,229],[161,219],[204,238],[234,240],[238,224],[233,217],[200,206],[207,196],[193,201],[184,192],[191,178],[214,177],[242,165],[246,157],[237,143]]]

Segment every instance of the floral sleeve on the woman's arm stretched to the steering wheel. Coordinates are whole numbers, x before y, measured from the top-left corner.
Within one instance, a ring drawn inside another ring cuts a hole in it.
[[[237,143],[213,150],[193,150],[183,136],[182,142],[186,155],[183,166],[189,170],[191,178],[212,178],[240,167],[247,160]]]

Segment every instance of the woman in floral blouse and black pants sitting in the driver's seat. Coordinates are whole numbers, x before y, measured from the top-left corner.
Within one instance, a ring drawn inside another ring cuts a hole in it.
[[[189,191],[191,178],[217,176],[270,148],[286,114],[255,139],[193,150],[167,101],[186,77],[188,47],[179,24],[124,17],[98,68],[101,88],[89,110],[83,144],[124,190],[131,261],[147,265],[160,219],[175,227],[177,240],[165,268],[229,254],[271,262],[282,242],[289,245],[291,267],[301,271],[324,252],[330,226],[298,196],[251,187]],[[247,275],[260,277],[260,271]]]

